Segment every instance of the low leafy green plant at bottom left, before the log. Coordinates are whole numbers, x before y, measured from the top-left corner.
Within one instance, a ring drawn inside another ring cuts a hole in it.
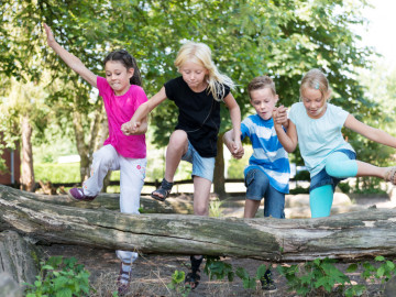
[[[41,262],[40,274],[34,284],[26,284],[26,297],[36,296],[89,296],[94,288],[89,285],[90,273],[75,257],[52,256]]]

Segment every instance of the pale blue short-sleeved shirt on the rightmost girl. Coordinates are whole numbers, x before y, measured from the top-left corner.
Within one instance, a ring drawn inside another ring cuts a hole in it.
[[[311,119],[302,102],[292,106],[288,117],[296,125],[300,153],[311,177],[324,167],[326,158],[332,152],[354,152],[341,133],[348,116],[349,112],[342,108],[327,103],[324,114],[319,119]]]

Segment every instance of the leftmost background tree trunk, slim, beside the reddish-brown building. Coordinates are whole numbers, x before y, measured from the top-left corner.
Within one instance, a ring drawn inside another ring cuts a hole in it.
[[[24,190],[33,191],[35,186],[34,170],[33,170],[33,150],[32,150],[32,125],[29,117],[22,118],[22,147],[21,147],[21,187]]]

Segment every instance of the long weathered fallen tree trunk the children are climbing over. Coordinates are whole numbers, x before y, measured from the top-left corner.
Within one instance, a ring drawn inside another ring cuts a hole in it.
[[[0,228],[54,243],[280,261],[396,255],[396,209],[318,219],[132,216],[45,204],[0,186]]]

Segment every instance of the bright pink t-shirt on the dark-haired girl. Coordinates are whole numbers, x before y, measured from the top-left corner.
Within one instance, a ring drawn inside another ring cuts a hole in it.
[[[144,90],[136,85],[131,85],[124,95],[116,96],[106,78],[100,76],[97,77],[97,87],[99,95],[103,98],[109,122],[109,138],[103,145],[111,144],[124,157],[146,157],[145,135],[127,136],[121,131],[121,125],[131,120],[140,105],[147,101]]]

